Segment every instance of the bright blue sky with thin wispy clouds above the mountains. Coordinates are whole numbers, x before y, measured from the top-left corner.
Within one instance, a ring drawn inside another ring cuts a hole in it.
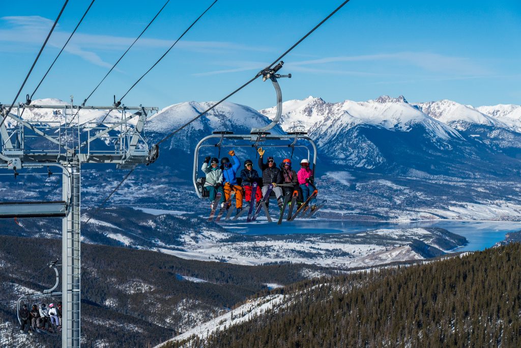
[[[212,1],[172,0],[89,100],[110,105]],[[62,1],[3,2],[0,102],[10,103]],[[31,93],[90,1],[70,0],[19,100]],[[340,0],[219,0],[123,101],[164,107],[216,101],[253,77],[336,8]],[[163,6],[97,0],[34,98],[81,103]],[[409,101],[521,104],[521,2],[351,0],[284,58],[284,100],[330,102],[403,94]],[[230,101],[275,105],[256,80]]]

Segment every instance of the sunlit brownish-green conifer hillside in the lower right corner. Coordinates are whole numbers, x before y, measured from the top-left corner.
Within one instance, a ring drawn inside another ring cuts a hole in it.
[[[521,345],[521,244],[425,265],[304,281],[284,304],[165,347]]]

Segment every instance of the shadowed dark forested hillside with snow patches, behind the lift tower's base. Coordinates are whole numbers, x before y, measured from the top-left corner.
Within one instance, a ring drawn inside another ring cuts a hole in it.
[[[266,283],[287,285],[325,272],[311,265],[239,266],[89,244],[82,244],[81,252],[85,346],[155,345],[267,292]],[[18,331],[16,300],[54,284],[54,272],[45,265],[60,253],[61,243],[55,239],[0,236],[0,322],[10,322]],[[47,335],[34,340],[60,346],[59,338]],[[7,346],[16,346],[11,343]]]

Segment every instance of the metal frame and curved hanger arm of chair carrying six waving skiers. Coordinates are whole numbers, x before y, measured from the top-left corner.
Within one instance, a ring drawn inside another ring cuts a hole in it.
[[[234,134],[232,131],[214,131],[212,135],[208,135],[201,139],[197,143],[194,151],[194,165],[193,165],[193,184],[195,187],[195,193],[199,198],[206,198],[207,193],[204,190],[205,176],[199,177],[199,153],[202,148],[217,148],[218,155],[220,157],[221,148],[253,148],[255,149],[255,155],[257,155],[257,148],[287,148],[291,149],[291,157],[295,148],[304,149],[307,152],[307,160],[312,164],[313,175],[315,174],[315,167],[317,162],[317,147],[315,142],[307,136],[305,131],[294,131],[286,134],[271,134],[269,130],[275,127],[282,116],[282,92],[280,90],[277,79],[281,77],[291,78],[291,74],[280,75],[277,71],[282,68],[284,62],[280,62],[269,70],[262,72],[263,81],[267,79],[271,80],[272,85],[275,87],[277,93],[277,114],[273,121],[265,127],[252,128],[250,134]],[[208,143],[209,140],[218,139],[216,143]],[[233,141],[244,140],[244,143],[235,143]],[[298,142],[304,140],[307,145]],[[289,143],[288,143],[289,141]],[[311,146],[311,147],[310,147]],[[259,173],[262,175],[262,173]]]

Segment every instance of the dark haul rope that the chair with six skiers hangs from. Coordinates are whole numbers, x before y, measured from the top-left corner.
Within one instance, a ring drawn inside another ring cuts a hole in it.
[[[322,19],[313,29],[311,29],[310,31],[307,32],[307,34],[305,34],[299,41],[295,42],[293,44],[293,46],[291,46],[286,52],[284,52],[282,55],[280,55],[277,59],[275,59],[275,61],[273,61],[273,63],[271,63],[270,65],[268,65],[266,68],[264,68],[263,70],[259,71],[257,73],[257,75],[255,75],[255,77],[253,77],[252,79],[250,79],[249,81],[247,81],[246,83],[244,83],[244,85],[242,85],[241,87],[239,87],[238,89],[234,90],[233,92],[231,92],[230,94],[228,94],[225,98],[222,98],[220,101],[218,101],[217,103],[215,103],[214,105],[212,105],[211,107],[209,107],[207,110],[205,110],[204,112],[202,112],[201,114],[195,116],[194,118],[192,118],[189,122],[185,123],[184,125],[182,125],[181,127],[179,127],[178,129],[172,131],[172,133],[170,133],[169,135],[167,135],[166,137],[164,137],[163,139],[159,140],[156,145],[159,145],[160,143],[162,143],[163,141],[169,139],[170,137],[172,137],[173,135],[175,135],[176,133],[178,133],[179,131],[181,131],[182,129],[184,129],[185,127],[187,127],[188,125],[190,125],[191,123],[193,123],[194,121],[196,121],[196,119],[200,118],[201,116],[207,114],[209,111],[213,110],[217,105],[219,105],[220,103],[224,102],[225,100],[227,100],[228,98],[230,98],[233,94],[239,92],[241,89],[243,89],[244,87],[246,87],[247,85],[249,85],[250,83],[252,83],[255,79],[257,79],[259,76],[263,75],[263,73],[265,73],[266,71],[268,71],[269,69],[271,69],[272,66],[275,65],[275,63],[277,63],[280,59],[282,59],[284,56],[286,56],[288,53],[291,52],[291,50],[293,50],[298,44],[300,44],[302,41],[304,41],[309,35],[311,35],[312,32],[314,32],[316,29],[318,29],[318,27],[320,27],[322,24],[324,24],[325,21],[327,21],[329,18],[331,18],[332,15],[336,14],[338,10],[340,10],[342,7],[344,7],[345,4],[349,3],[350,0],[345,0],[342,4],[340,4],[340,6],[338,6],[336,9],[334,9],[334,11],[332,11],[326,18]],[[213,4],[212,4],[213,5]],[[211,6],[210,6],[211,7]],[[123,96],[124,97],[124,96]],[[115,192],[116,190],[119,188],[119,186],[121,186],[121,184],[123,182],[125,182],[125,180],[129,177],[129,175],[133,172],[134,170],[132,169],[123,179],[122,181],[116,186],[116,188],[110,193],[110,195],[105,198],[105,200],[103,201],[102,204],[104,204]],[[101,208],[98,207],[94,212],[97,212],[99,209]],[[89,218],[90,220],[90,218]],[[87,220],[86,222],[89,222],[89,220]]]

